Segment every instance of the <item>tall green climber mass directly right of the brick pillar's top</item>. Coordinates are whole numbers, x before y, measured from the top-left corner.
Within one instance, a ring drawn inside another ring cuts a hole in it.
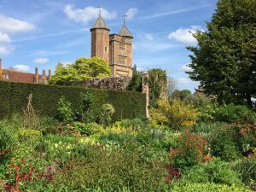
[[[160,94],[166,92],[167,75],[166,71],[154,68],[148,71],[149,79],[149,106],[154,107],[155,102],[160,99]]]

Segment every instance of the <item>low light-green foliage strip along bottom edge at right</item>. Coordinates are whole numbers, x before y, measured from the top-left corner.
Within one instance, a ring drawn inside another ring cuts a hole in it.
[[[214,183],[188,183],[186,185],[175,185],[172,192],[252,192],[250,189],[242,187],[228,186]]]

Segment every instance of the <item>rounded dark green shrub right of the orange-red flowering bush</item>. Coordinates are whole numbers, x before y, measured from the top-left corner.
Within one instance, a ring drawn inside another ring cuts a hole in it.
[[[223,124],[212,130],[211,138],[208,140],[212,148],[213,156],[222,160],[235,160],[241,155],[236,143],[236,131],[232,125]]]

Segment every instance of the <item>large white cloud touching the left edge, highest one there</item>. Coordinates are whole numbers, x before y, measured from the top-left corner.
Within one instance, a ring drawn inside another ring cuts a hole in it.
[[[0,15],[0,23],[0,32],[31,32],[36,28],[32,23],[23,20],[16,20],[4,15]]]

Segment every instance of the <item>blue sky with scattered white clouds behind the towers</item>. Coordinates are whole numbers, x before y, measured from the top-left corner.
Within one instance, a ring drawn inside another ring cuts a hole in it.
[[[133,64],[139,70],[166,70],[180,90],[194,91],[187,46],[196,46],[190,32],[206,31],[217,0],[0,0],[0,57],[3,68],[34,73],[90,57],[90,27],[98,8],[118,33],[127,15],[134,37]]]

